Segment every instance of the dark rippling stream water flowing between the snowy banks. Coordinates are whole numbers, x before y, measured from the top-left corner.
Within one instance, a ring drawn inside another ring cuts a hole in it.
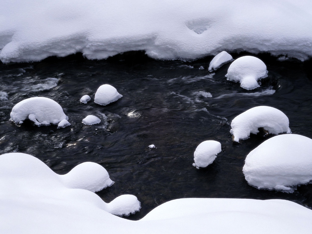
[[[281,198],[310,208],[311,184],[294,193],[258,190],[242,173],[246,155],[265,140],[253,135],[241,144],[232,143],[231,121],[243,111],[258,105],[278,108],[288,116],[293,133],[312,138],[312,62],[259,57],[269,77],[251,91],[226,80],[229,65],[209,73],[212,57],[154,61],[133,52],[106,61],[76,55],[0,64],[0,91],[8,94],[8,100],[0,101],[0,153],[31,154],[59,174],[86,161],[101,164],[115,181],[97,193],[105,202],[122,194],[133,194],[141,202],[141,211],[130,219],[184,197]],[[102,84],[113,85],[124,97],[105,107],[93,101],[80,104],[86,94],[93,100]],[[71,126],[57,129],[9,121],[15,104],[35,96],[57,101]],[[84,125],[81,120],[87,115],[102,122]],[[222,144],[222,153],[198,170],[192,166],[193,152],[210,139]],[[157,149],[150,150],[150,144]]]

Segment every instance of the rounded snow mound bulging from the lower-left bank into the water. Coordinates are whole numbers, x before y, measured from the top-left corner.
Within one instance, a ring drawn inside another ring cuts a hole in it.
[[[60,177],[67,188],[81,188],[91,192],[98,192],[114,184],[105,168],[92,162],[80,163]]]

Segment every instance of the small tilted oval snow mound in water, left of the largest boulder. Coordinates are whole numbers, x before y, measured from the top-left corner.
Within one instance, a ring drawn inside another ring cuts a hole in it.
[[[220,152],[220,142],[208,140],[200,143],[194,152],[195,163],[193,163],[193,166],[197,169],[200,167],[207,167],[217,158],[217,154]]]

